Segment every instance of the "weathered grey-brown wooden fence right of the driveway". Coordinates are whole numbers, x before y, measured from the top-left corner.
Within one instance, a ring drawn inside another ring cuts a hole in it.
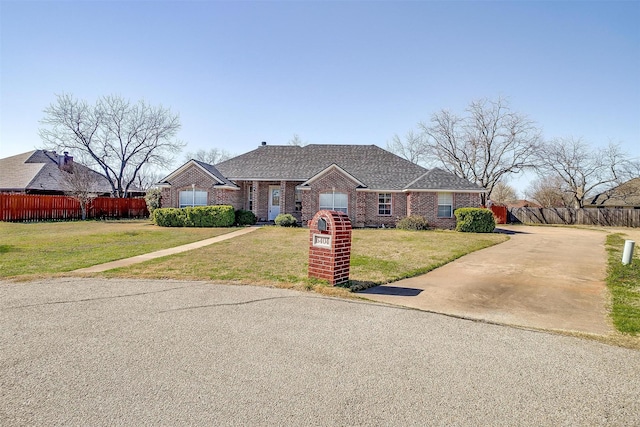
[[[510,208],[509,222],[640,227],[640,209]]]

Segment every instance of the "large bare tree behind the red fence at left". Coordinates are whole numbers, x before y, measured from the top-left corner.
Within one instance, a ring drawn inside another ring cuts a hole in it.
[[[71,95],[58,95],[44,110],[40,137],[45,146],[73,151],[111,182],[116,197],[126,197],[145,165],[171,166],[184,144],[175,139],[178,115],[144,101],[131,104],[105,96],[89,105]]]

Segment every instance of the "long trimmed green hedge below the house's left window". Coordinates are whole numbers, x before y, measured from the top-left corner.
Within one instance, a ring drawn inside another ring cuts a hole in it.
[[[233,206],[196,206],[159,208],[153,211],[153,222],[161,227],[231,227],[236,220]]]

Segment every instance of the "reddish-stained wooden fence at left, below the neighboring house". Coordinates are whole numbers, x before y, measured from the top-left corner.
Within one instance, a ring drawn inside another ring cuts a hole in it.
[[[87,218],[144,218],[144,199],[98,197],[87,207]],[[0,193],[0,221],[46,221],[82,218],[80,202],[68,196]]]

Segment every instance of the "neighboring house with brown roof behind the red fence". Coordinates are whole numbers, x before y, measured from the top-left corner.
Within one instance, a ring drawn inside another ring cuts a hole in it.
[[[35,150],[0,159],[0,192],[22,194],[65,194],[69,190],[64,175],[73,167],[84,168],[95,176],[95,193],[110,195],[111,185],[104,176],[79,163],[68,153]]]

